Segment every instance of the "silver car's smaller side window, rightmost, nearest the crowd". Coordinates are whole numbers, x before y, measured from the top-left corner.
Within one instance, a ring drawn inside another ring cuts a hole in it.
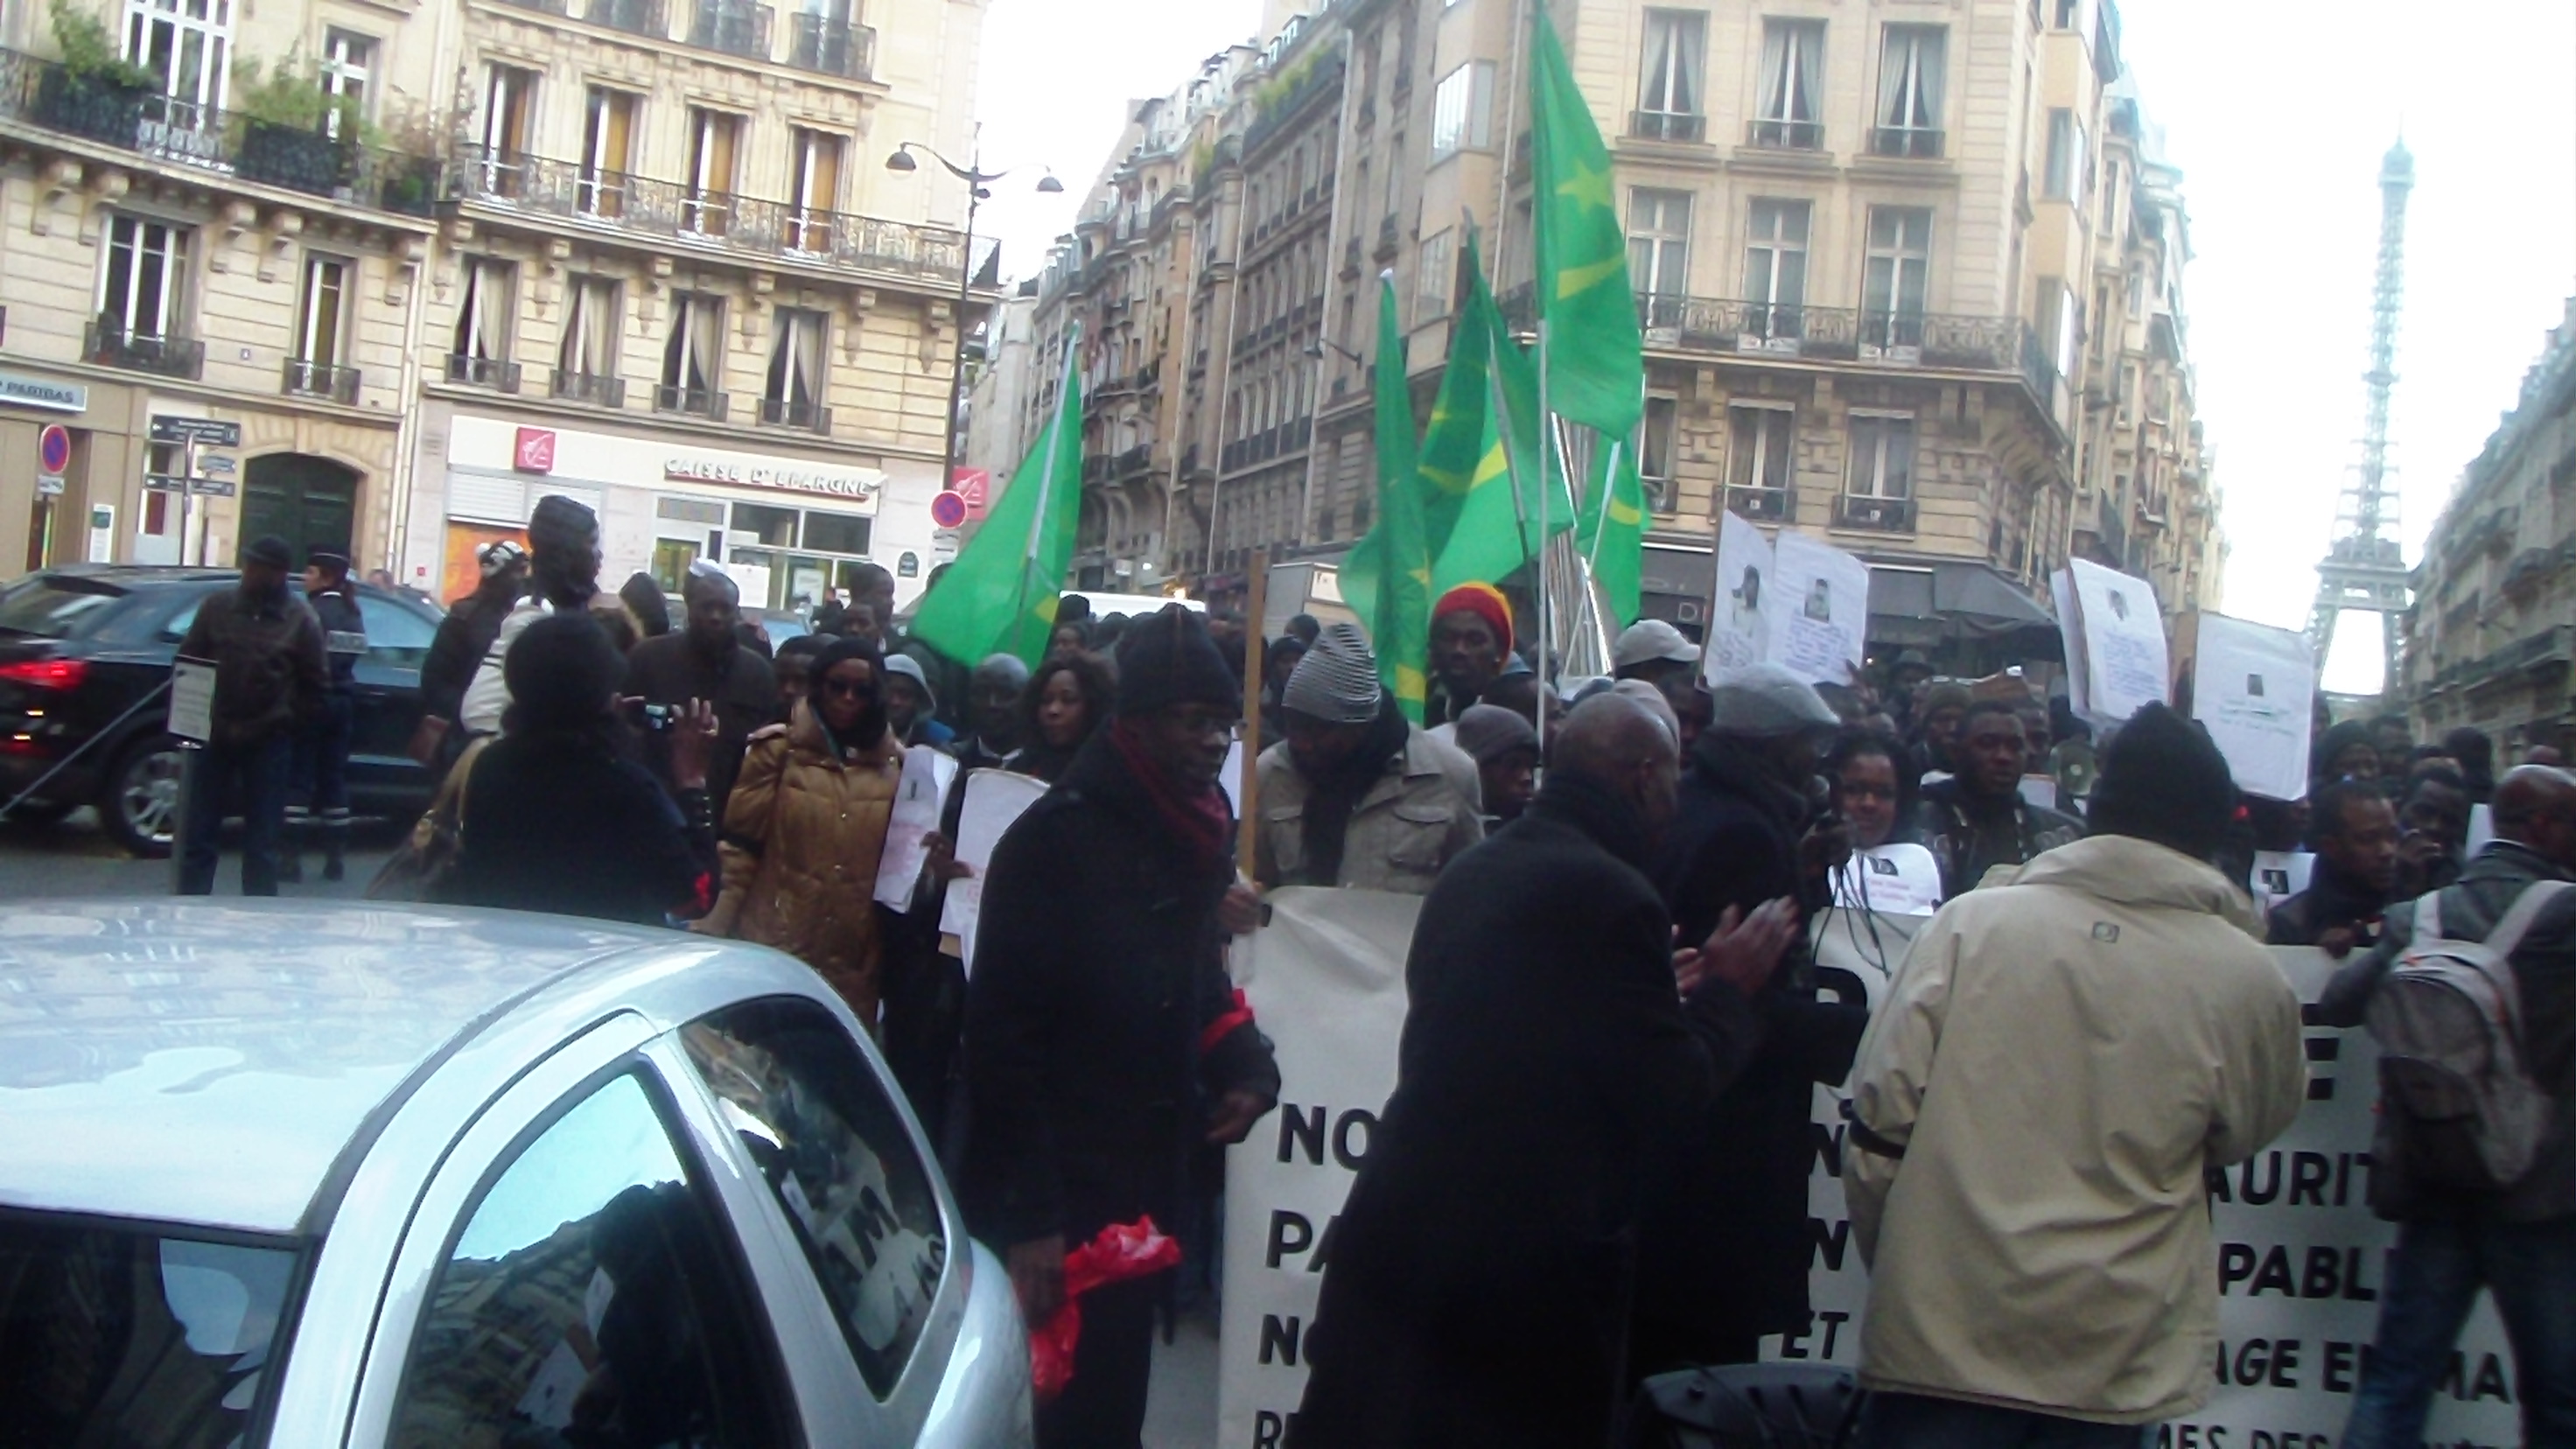
[[[891,1395],[948,1271],[938,1189],[894,1098],[804,998],[732,1006],[680,1042],[796,1225],[860,1377]]]

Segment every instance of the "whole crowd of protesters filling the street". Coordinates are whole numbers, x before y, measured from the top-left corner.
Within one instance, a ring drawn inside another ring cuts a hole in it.
[[[345,789],[314,761],[345,755],[348,562],[312,559],[309,608],[281,541],[242,562],[183,645],[219,670],[198,789],[273,817],[301,792],[337,871]],[[1414,722],[1352,624],[1298,616],[1255,652],[1226,614],[1064,596],[1041,657],[945,660],[904,637],[884,570],[775,647],[721,570],[677,580],[677,619],[654,580],[608,593],[598,570],[598,518],[567,498],[482,552],[422,668],[412,750],[443,786],[404,882],[814,967],[1033,1320],[1066,1245],[1203,1222],[1216,1152],[1275,1106],[1226,980],[1260,897],[1425,897],[1293,1444],[1600,1444],[1643,1377],[1806,1330],[1816,1085],[1850,1091],[1873,1271],[1857,1444],[2154,1441],[2213,1387],[2202,1181],[2306,1101],[2300,1003],[2259,946],[2342,959],[2313,1016],[2360,1024],[2411,941],[2506,920],[2555,1116],[2491,1191],[2383,1145],[2372,1204],[2403,1227],[2344,1444],[2421,1441],[2481,1287],[2530,1441],[2576,1441],[2576,892],[2514,913],[2576,869],[2576,779],[2545,750],[2499,773],[2473,730],[2416,745],[2396,717],[2321,717],[2306,799],[2272,802],[2187,712],[2094,740],[2020,670],[1945,678],[1919,652],[1839,686],[1710,678],[1649,619],[1610,678],[1556,678],[1486,585],[1435,601]],[[1247,735],[1239,859],[1221,773]],[[907,750],[1048,786],[984,871],[971,962],[940,931],[974,874],[963,792],[904,905],[881,900]],[[1842,871],[1906,848],[1945,905],[1875,1006],[1821,987]],[[2277,851],[2313,853],[2306,890],[2264,879]],[[247,856],[273,890],[258,817]],[[211,890],[214,838],[185,859],[183,890]],[[1139,1441],[1167,1302],[1084,1297],[1041,1444]]]

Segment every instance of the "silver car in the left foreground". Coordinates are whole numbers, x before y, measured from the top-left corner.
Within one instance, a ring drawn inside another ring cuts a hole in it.
[[[0,910],[0,1439],[1030,1441],[1010,1279],[768,949]]]

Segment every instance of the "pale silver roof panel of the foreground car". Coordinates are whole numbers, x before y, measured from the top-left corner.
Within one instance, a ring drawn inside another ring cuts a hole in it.
[[[690,944],[497,910],[15,902],[0,1207],[291,1232],[464,1042],[585,967]]]

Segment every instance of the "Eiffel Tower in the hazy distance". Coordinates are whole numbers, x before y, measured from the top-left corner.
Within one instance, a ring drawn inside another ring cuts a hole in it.
[[[2398,309],[2406,304],[2406,193],[2414,191],[2414,155],[2406,142],[2380,160],[2380,268],[2370,289],[2370,384],[2362,410],[2362,462],[2334,511],[2334,544],[2316,565],[2316,673],[2324,678],[2334,650],[2334,621],[2347,608],[2380,616],[2380,694],[2398,686],[2398,616],[2414,590],[2398,544],[2398,492],[2388,469],[2388,392],[2396,387]]]

